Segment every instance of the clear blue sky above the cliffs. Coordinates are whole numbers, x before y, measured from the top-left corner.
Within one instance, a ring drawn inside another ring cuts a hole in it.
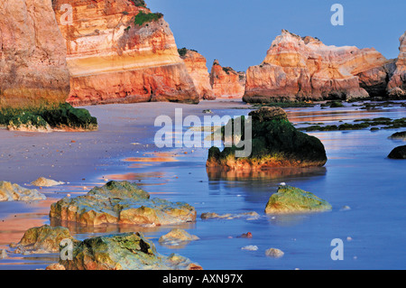
[[[406,31],[406,0],[146,0],[170,23],[178,47],[222,66],[246,70],[261,63],[273,39],[287,29],[327,45],[374,47],[396,58]],[[330,7],[344,7],[344,25],[330,23]]]

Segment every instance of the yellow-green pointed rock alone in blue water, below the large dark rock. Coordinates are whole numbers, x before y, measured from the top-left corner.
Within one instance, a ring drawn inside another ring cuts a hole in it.
[[[284,214],[330,210],[326,200],[319,199],[313,193],[299,188],[283,185],[272,194],[266,204],[265,213]]]

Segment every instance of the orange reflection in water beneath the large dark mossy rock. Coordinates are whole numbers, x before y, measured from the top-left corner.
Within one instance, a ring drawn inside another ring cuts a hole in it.
[[[327,169],[325,167],[312,167],[312,168],[269,168],[264,170],[226,170],[222,168],[208,167],[208,180],[209,181],[270,181],[270,180],[283,180],[291,176],[322,176],[325,175]]]

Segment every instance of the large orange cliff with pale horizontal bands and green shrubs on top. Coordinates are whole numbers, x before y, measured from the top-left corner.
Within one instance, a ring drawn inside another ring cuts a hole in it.
[[[65,24],[71,5],[72,24]],[[73,105],[180,101],[198,92],[171,29],[141,0],[54,0],[66,39]]]

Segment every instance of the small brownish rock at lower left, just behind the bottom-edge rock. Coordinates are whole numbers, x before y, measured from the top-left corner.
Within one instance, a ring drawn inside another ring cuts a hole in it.
[[[68,228],[44,225],[25,231],[16,248],[19,253],[23,251],[55,253],[60,251],[60,242],[63,239],[77,241],[70,235]]]

